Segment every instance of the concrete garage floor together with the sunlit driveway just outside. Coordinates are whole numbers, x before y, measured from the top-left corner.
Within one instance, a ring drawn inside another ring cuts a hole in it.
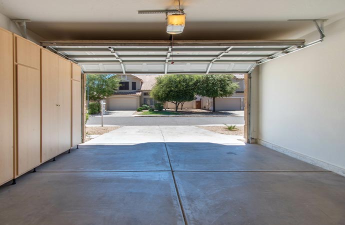
[[[193,126],[125,126],[0,187],[0,224],[345,224],[345,178]]]

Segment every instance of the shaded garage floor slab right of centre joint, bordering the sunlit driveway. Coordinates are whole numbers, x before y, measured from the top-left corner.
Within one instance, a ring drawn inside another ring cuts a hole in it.
[[[174,170],[325,171],[258,144],[166,143]]]

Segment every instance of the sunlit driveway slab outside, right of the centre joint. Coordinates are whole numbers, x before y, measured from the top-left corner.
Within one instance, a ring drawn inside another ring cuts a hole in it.
[[[226,134],[215,133],[195,126],[159,126],[165,142],[222,143],[244,145]]]

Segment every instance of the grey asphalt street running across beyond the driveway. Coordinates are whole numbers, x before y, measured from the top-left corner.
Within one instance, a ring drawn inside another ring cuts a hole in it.
[[[100,124],[101,117],[90,116],[86,124]],[[106,125],[206,125],[206,124],[244,124],[243,116],[104,116]]]

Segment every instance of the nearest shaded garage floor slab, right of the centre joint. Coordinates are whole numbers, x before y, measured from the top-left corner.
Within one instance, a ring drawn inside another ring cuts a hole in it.
[[[330,172],[174,172],[189,225],[345,224],[345,180]]]

